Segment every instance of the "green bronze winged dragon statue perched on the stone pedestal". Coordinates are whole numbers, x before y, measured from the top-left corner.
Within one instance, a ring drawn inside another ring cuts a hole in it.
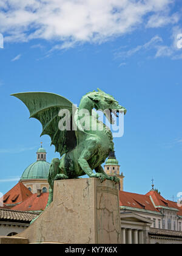
[[[58,94],[45,92],[27,92],[12,94],[29,108],[30,118],[38,119],[42,124],[41,135],[49,135],[59,152],[61,160],[54,158],[49,169],[49,200],[53,200],[53,182],[60,179],[76,179],[87,174],[119,182],[117,177],[109,177],[102,163],[109,152],[114,150],[110,129],[93,115],[93,108],[101,110],[109,122],[113,123],[112,113],[118,116],[126,114],[126,108],[104,91],[92,91],[83,96],[79,107]],[[84,116],[84,121],[83,121]],[[69,124],[66,129],[65,124]],[[95,172],[93,172],[95,169]]]

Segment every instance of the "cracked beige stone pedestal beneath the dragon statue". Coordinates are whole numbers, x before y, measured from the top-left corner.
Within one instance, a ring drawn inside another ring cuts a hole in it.
[[[17,236],[29,243],[120,244],[118,184],[56,180],[52,204]]]

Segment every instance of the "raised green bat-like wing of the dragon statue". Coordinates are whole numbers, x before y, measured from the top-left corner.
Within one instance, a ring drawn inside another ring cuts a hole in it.
[[[27,106],[30,118],[38,119],[42,124],[42,135],[49,135],[55,152],[60,156],[75,148],[77,141],[75,130],[72,129],[72,115],[76,111],[75,105],[68,99],[54,93],[27,92],[11,94],[20,99]],[[60,110],[69,110],[70,130],[60,130],[59,121],[64,116],[58,115]]]

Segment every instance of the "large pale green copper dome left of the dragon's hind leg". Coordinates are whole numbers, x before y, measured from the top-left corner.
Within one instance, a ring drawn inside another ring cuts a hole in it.
[[[45,179],[47,180],[50,163],[46,161],[36,161],[29,165],[23,172],[20,180]]]

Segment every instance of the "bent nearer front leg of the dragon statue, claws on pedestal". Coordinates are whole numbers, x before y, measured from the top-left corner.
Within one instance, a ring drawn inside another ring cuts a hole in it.
[[[106,180],[106,176],[102,172],[96,172],[94,173],[92,169],[89,166],[89,163],[87,162],[93,155],[94,150],[92,148],[85,149],[80,157],[78,158],[78,163],[81,166],[81,169],[91,178],[91,177],[97,177],[98,179],[103,182]]]

